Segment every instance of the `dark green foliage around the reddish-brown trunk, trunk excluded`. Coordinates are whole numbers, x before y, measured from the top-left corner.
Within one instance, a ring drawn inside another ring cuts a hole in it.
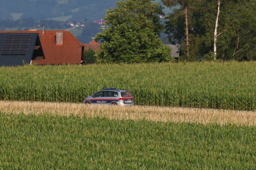
[[[168,0],[162,0],[169,3]],[[205,48],[203,46],[202,36],[205,33],[205,29],[201,26],[201,22],[198,20],[203,16],[204,7],[198,5],[198,1],[178,0],[171,2],[179,2],[181,7],[174,10],[165,19],[165,32],[168,34],[169,41],[172,44],[181,44],[181,60],[184,61],[198,61],[200,55],[203,55]],[[188,34],[189,34],[189,56],[187,56],[186,50],[186,33],[185,33],[185,13],[184,6],[188,7]]]

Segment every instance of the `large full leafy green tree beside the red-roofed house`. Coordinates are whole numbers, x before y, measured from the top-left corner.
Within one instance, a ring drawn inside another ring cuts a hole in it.
[[[151,0],[124,0],[107,10],[97,57],[101,63],[141,63],[174,60],[159,38],[162,7]]]

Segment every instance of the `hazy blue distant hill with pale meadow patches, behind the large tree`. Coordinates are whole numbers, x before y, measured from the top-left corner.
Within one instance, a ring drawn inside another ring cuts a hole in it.
[[[0,19],[98,20],[118,0],[0,0]],[[160,0],[154,2],[162,5]],[[166,13],[171,12],[167,7]]]

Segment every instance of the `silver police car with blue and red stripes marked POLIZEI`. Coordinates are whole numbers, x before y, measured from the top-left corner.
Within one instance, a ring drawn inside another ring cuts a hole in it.
[[[105,88],[83,100],[84,104],[134,105],[134,96],[128,90]]]

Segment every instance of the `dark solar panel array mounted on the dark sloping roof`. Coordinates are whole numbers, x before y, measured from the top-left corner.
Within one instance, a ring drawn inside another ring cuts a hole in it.
[[[6,34],[1,55],[27,54],[31,34]]]

